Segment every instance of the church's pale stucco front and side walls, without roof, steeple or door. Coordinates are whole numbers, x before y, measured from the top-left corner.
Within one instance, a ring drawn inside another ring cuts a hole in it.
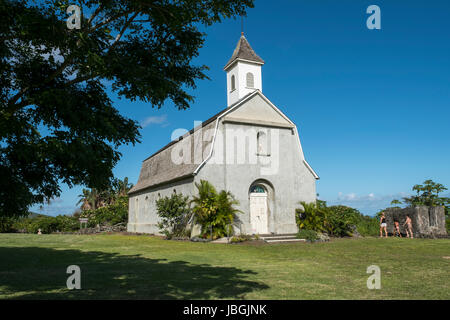
[[[254,124],[249,124],[252,121]],[[215,123],[211,123],[210,127],[215,127]],[[270,155],[256,155],[258,131],[266,133]],[[204,134],[207,135],[206,140],[211,141],[211,131]],[[236,153],[242,149],[230,149],[230,143],[234,141],[236,144],[239,139],[246,141],[243,147],[245,157],[241,162]],[[234,161],[231,163],[230,159]],[[295,209],[300,207],[299,202],[316,200],[316,178],[304,160],[296,127],[257,93],[235,113],[231,110],[220,119],[213,157],[195,177],[130,195],[128,231],[159,233],[156,199],[170,196],[174,189],[177,193],[192,197],[197,193],[194,183],[204,179],[218,191],[230,191],[239,201],[238,208],[243,212],[239,215],[242,224],[236,231],[251,233],[249,190],[258,181],[268,190],[269,232],[295,233]]]

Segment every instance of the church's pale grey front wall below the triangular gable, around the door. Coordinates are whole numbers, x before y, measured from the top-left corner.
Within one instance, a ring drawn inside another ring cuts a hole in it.
[[[269,140],[265,154],[258,155],[258,132],[264,132]],[[296,130],[225,122],[219,126],[218,137],[222,138],[218,138],[214,146],[215,156],[195,180],[208,180],[217,189],[233,193],[243,211],[239,215],[243,233],[251,233],[250,186],[257,180],[266,181],[273,187],[274,194],[268,205],[269,232],[295,233],[298,202],[316,199],[315,178],[303,163]],[[245,156],[238,154],[238,150],[245,150]]]

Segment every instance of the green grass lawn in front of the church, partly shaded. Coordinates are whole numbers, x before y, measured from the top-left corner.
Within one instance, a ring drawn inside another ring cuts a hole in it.
[[[0,246],[2,299],[450,299],[450,239],[256,246],[0,234]],[[73,264],[81,290],[66,288]],[[380,290],[366,286],[373,264]]]

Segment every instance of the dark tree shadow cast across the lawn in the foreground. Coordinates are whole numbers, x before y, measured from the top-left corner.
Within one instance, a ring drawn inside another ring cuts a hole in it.
[[[81,290],[68,290],[69,265]],[[13,299],[240,299],[268,286],[256,273],[95,251],[0,248],[0,297]]]

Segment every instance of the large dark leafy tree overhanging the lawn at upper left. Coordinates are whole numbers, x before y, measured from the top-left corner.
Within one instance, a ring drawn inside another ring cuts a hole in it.
[[[81,8],[69,29],[69,5]],[[245,15],[253,0],[0,0],[0,216],[60,195],[104,190],[118,148],[139,142],[120,98],[179,109],[206,79],[199,27]],[[108,87],[108,88],[107,88]]]

